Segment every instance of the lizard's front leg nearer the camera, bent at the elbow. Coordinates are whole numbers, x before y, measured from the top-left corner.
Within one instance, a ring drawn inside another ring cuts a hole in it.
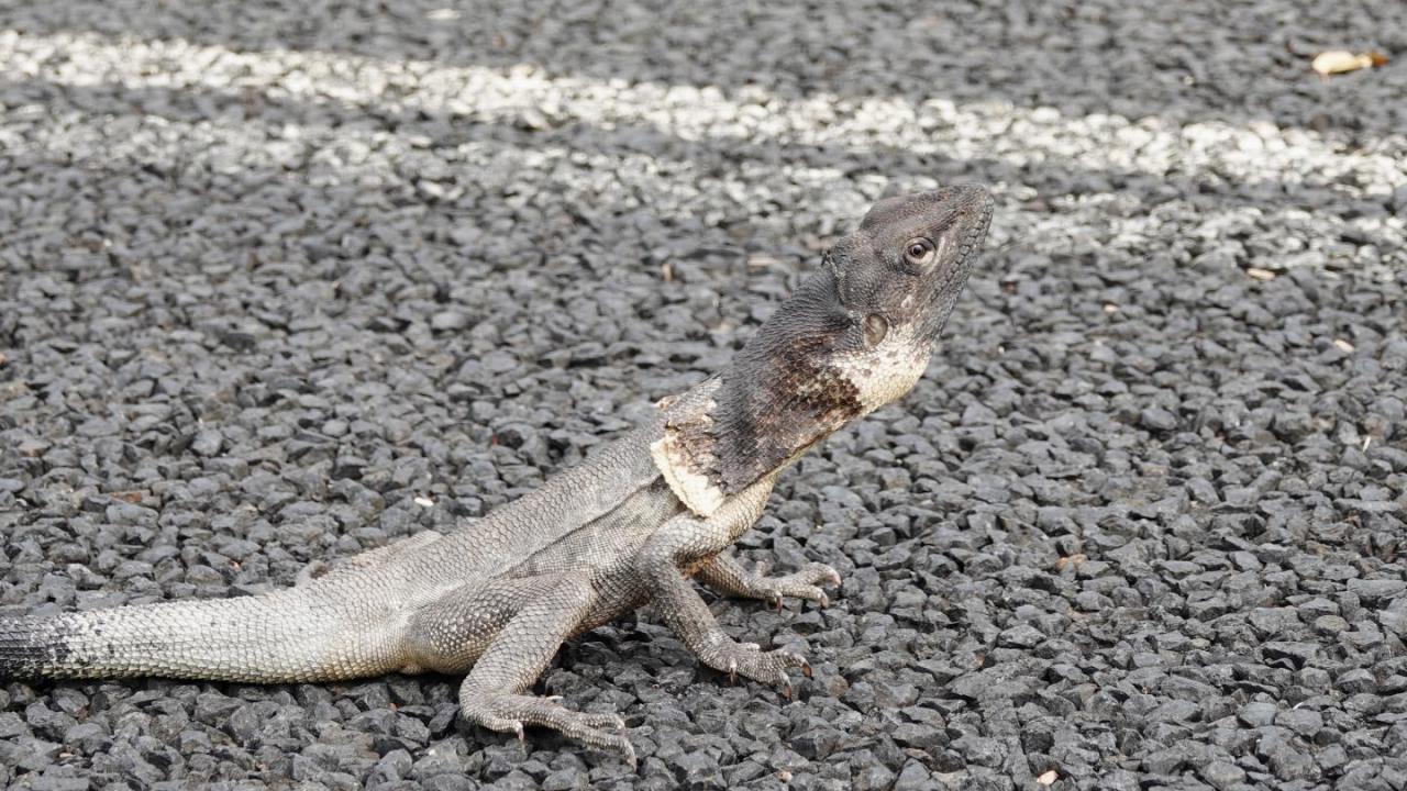
[[[675,517],[640,549],[635,570],[642,577],[664,624],[698,654],[704,664],[757,681],[781,684],[791,695],[787,671],[810,666],[801,654],[764,652],[757,643],[739,643],[727,633],[680,570],[681,564],[716,555],[733,538],[733,531],[715,519]]]

